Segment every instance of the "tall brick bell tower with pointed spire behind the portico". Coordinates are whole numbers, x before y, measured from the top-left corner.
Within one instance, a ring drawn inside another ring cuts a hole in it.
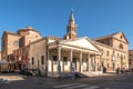
[[[73,16],[73,10],[71,10],[69,22],[66,26],[66,34],[64,36],[64,39],[74,40],[75,38],[76,38],[76,24],[75,24],[75,20],[74,20],[74,16]]]

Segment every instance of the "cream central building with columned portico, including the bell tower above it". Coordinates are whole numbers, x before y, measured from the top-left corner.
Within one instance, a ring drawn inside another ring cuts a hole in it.
[[[76,38],[76,24],[71,12],[63,39],[44,37],[30,43],[29,68],[39,69],[50,77],[80,72],[102,71],[101,51],[88,37]]]

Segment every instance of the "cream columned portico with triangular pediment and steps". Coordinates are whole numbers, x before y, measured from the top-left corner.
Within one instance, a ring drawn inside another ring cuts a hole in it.
[[[48,73],[101,71],[101,52],[88,37],[49,44]]]

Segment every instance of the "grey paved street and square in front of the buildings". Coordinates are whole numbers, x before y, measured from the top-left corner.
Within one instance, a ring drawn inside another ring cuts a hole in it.
[[[133,89],[133,73],[83,79],[55,79],[6,73],[0,75],[0,79],[9,81],[9,83],[0,85],[0,89]]]

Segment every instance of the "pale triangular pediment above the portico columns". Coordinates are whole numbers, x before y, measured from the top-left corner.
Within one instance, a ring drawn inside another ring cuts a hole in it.
[[[75,40],[61,41],[60,43],[74,48],[100,51],[99,48],[88,37],[78,38]]]

